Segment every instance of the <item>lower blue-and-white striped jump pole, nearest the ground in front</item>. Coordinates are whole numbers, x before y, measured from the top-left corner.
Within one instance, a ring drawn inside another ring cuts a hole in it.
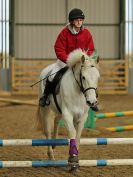
[[[111,160],[79,160],[79,166],[117,166],[133,165],[133,159]],[[11,167],[65,167],[69,166],[67,160],[47,161],[0,161],[0,168]]]

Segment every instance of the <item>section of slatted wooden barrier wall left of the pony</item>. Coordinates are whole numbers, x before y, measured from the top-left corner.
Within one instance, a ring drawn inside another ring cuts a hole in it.
[[[38,84],[33,88],[30,86],[39,81],[40,72],[43,68],[55,60],[12,60],[12,94],[37,95]]]

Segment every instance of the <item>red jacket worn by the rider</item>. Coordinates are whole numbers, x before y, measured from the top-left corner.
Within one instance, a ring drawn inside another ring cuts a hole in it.
[[[73,34],[68,26],[66,26],[58,35],[55,42],[55,53],[58,59],[66,63],[70,52],[81,48],[91,55],[94,51],[94,44],[91,33],[83,28],[78,34]]]

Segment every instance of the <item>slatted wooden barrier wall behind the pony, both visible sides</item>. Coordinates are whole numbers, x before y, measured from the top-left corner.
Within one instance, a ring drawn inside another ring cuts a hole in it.
[[[55,60],[12,60],[12,94],[37,95],[38,85],[30,87],[39,80],[41,70]],[[126,60],[100,60],[99,92],[101,94],[128,93],[128,65]]]

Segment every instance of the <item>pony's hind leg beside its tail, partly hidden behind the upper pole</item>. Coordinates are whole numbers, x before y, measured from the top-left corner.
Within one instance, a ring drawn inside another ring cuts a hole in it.
[[[47,139],[51,139],[54,119],[48,107],[41,108],[41,117],[43,123],[43,133]],[[52,146],[48,146],[47,155],[49,160],[55,159]]]

